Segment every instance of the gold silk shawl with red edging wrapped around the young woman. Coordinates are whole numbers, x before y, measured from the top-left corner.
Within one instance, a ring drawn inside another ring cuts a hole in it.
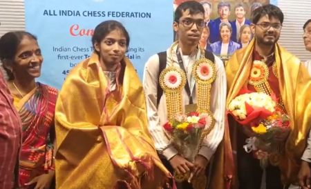
[[[138,75],[124,63],[120,100],[97,54],[68,74],[55,110],[57,188],[160,188],[171,177],[147,130]]]

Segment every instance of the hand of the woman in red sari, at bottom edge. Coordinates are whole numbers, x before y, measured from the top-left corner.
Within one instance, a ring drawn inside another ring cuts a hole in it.
[[[39,175],[38,177],[35,177],[34,179],[32,179],[30,182],[26,183],[25,185],[30,186],[30,185],[36,183],[34,189],[49,189],[54,175],[55,175],[55,171],[50,170],[46,174],[42,174],[42,175]]]

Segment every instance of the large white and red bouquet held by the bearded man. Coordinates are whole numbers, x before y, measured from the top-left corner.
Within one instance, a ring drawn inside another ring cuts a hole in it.
[[[246,152],[273,152],[279,147],[275,136],[290,130],[288,115],[276,110],[274,95],[261,92],[241,94],[229,103],[229,112],[243,126],[249,127],[254,137],[246,140]]]

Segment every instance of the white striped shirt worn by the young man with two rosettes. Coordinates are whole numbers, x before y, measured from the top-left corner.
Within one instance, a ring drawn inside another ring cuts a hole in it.
[[[173,59],[174,66],[179,66],[176,57],[176,48],[167,50],[167,67],[170,66],[170,59]],[[189,62],[185,65],[185,71],[188,73],[189,69],[192,70],[194,62],[199,59],[200,51],[189,55]],[[214,114],[216,120],[213,130],[205,137],[202,142],[202,148],[200,148],[198,154],[210,159],[220,141],[223,139],[225,128],[225,98],[226,98],[226,76],[223,61],[218,57],[215,57],[215,66],[217,77],[211,87],[211,112]],[[184,59],[184,58],[183,58]],[[185,60],[183,60],[185,63]],[[177,155],[176,148],[170,145],[169,139],[164,135],[163,124],[167,122],[167,106],[165,102],[165,94],[163,93],[160,98],[160,103],[157,108],[157,92],[158,92],[158,73],[159,72],[159,57],[158,54],[154,54],[149,58],[144,67],[143,86],[146,94],[147,114],[149,121],[149,130],[155,142],[156,150],[161,152],[164,157],[171,159]],[[189,77],[189,74],[187,74]],[[189,79],[189,78],[188,78]],[[194,78],[191,77],[191,83],[194,82]],[[196,86],[192,90],[191,97],[196,103]],[[185,88],[182,90],[182,105],[189,104],[189,97]]]

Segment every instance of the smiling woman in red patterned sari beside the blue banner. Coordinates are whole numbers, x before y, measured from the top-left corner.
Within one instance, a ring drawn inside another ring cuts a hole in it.
[[[22,123],[20,187],[50,188],[55,175],[52,154],[57,90],[35,81],[43,61],[35,36],[8,32],[0,39],[0,51],[9,77],[8,88]]]

